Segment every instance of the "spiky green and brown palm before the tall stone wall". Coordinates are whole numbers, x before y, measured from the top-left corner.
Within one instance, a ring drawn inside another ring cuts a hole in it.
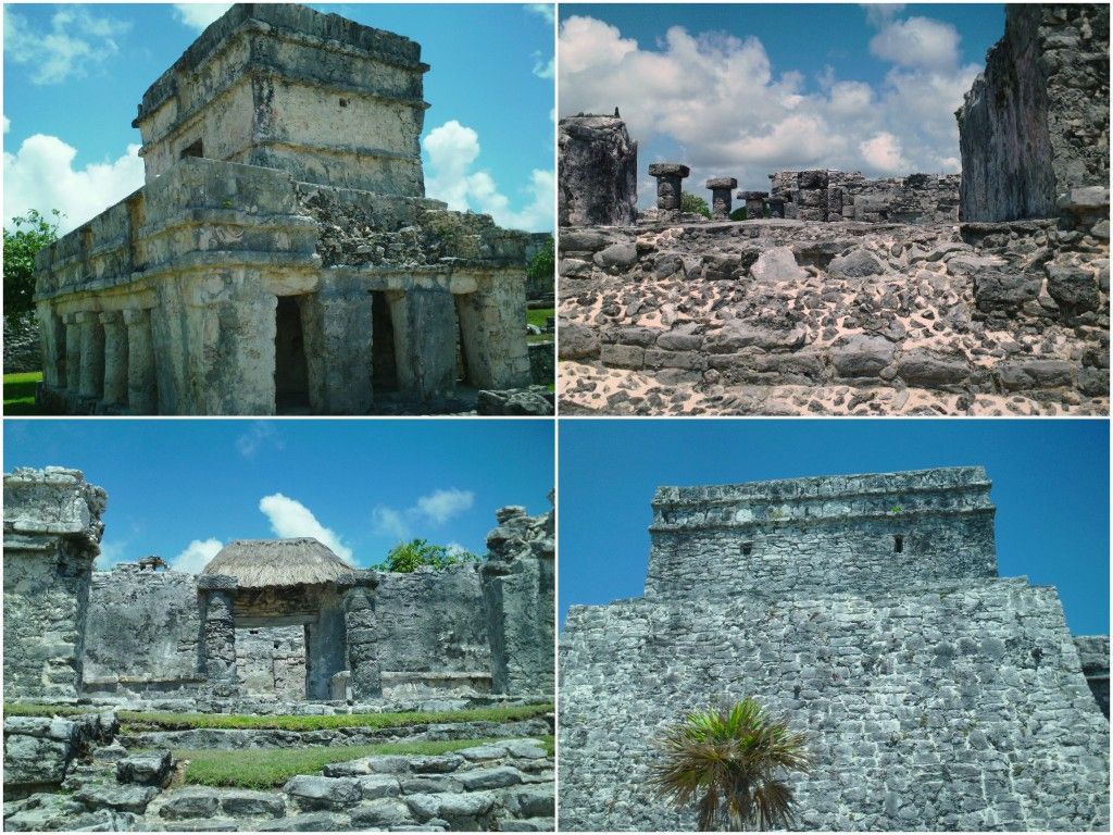
[[[807,772],[802,734],[789,730],[752,698],[697,710],[670,726],[657,743],[663,757],[652,784],[683,808],[693,799],[701,832],[716,827],[719,811],[730,829],[770,829],[792,823],[792,792],[781,772]]]

